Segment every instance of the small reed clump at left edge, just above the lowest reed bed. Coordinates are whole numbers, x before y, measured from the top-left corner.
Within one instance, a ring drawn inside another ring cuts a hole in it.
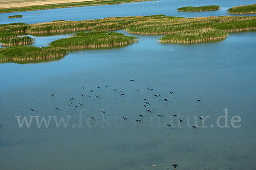
[[[35,40],[31,37],[16,37],[11,39],[0,40],[3,46],[14,46],[14,45],[31,45],[35,42]]]

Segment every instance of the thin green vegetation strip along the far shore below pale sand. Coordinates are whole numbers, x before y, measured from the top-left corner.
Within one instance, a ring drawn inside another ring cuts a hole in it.
[[[69,8],[69,7],[78,7],[78,6],[113,5],[113,4],[120,4],[120,3],[140,2],[140,1],[148,1],[148,0],[95,0],[95,1],[58,3],[58,4],[50,4],[50,5],[25,6],[25,7],[15,7],[15,8],[0,8],[0,13],[35,11],[35,10],[53,9],[53,8]]]

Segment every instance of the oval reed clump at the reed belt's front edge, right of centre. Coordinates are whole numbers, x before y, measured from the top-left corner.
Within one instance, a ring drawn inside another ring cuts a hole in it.
[[[160,38],[162,43],[196,43],[213,40],[223,40],[227,33],[222,30],[205,28],[201,30],[182,31],[168,34]]]

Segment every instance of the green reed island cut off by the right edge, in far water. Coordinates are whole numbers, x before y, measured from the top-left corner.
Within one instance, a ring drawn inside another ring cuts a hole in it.
[[[230,14],[256,14],[256,4],[236,6],[229,8],[227,11]]]

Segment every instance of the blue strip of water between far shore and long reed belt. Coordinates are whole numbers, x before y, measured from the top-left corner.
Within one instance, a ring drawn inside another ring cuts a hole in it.
[[[153,5],[154,3],[154,5]],[[0,14],[0,24],[6,23],[44,23],[54,20],[93,20],[105,17],[125,17],[125,16],[145,16],[165,14],[166,16],[177,17],[208,17],[233,15],[226,12],[233,6],[247,5],[255,3],[254,0],[156,0],[136,3],[123,3],[118,5],[86,6],[74,8],[56,8],[38,11],[24,11]],[[204,12],[180,12],[177,8],[183,6],[221,6],[217,11]],[[22,18],[7,18],[10,15],[23,15]],[[241,16],[251,16],[254,14],[243,14]]]

